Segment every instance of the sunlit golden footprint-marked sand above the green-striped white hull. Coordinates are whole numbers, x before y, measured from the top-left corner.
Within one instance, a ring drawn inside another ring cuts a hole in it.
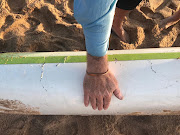
[[[110,49],[180,46],[180,22],[162,32],[158,25],[180,1],[146,1],[124,23],[131,44],[111,34]],[[0,5],[0,52],[85,50],[82,28],[73,17],[73,0],[1,0]]]

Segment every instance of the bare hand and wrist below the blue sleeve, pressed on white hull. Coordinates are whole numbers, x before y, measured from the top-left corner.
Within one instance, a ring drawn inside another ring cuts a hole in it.
[[[87,72],[96,74],[91,76],[86,73],[84,77],[84,104],[89,105],[95,110],[108,109],[111,96],[114,94],[117,98],[123,99],[122,93],[118,87],[115,76],[108,71],[107,55],[102,57],[87,54]],[[105,74],[102,74],[105,73]]]

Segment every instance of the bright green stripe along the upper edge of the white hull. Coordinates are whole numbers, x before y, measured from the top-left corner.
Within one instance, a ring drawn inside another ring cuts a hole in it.
[[[143,54],[114,54],[108,55],[109,61],[149,60],[149,59],[178,59],[180,52],[175,53],[143,53]],[[40,64],[40,63],[79,63],[86,62],[86,56],[18,56],[0,54],[0,64]]]

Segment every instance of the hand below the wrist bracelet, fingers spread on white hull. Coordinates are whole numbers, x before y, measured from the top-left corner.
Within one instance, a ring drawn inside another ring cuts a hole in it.
[[[122,100],[123,96],[118,87],[118,82],[115,76],[109,71],[106,74],[90,76],[86,73],[84,77],[84,104],[89,105],[91,102],[92,108],[95,110],[107,110],[111,96],[114,94],[118,99]]]

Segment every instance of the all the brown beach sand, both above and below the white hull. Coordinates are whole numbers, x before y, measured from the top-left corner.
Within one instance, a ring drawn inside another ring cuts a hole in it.
[[[142,1],[124,23],[131,43],[112,33],[110,49],[180,46],[180,22],[162,32],[158,25],[179,2]],[[0,6],[0,52],[85,50],[82,28],[73,18],[73,0],[0,0]],[[21,134],[178,135],[180,116],[0,115],[0,135]]]

